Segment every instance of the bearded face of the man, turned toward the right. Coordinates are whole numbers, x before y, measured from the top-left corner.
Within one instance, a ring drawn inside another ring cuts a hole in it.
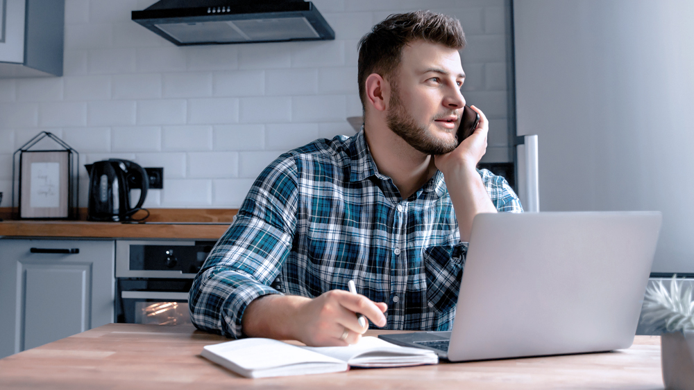
[[[388,127],[425,154],[454,150],[464,80],[457,50],[424,41],[408,44],[400,67],[389,76]]]

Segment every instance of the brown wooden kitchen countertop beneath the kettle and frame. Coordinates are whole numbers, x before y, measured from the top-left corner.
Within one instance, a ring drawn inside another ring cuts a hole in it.
[[[151,209],[151,215],[146,221],[155,222],[153,224],[6,219],[0,222],[0,236],[217,240],[228,229],[236,212],[235,209]],[[9,213],[0,212],[0,215],[8,218]],[[81,215],[86,219],[85,211]]]

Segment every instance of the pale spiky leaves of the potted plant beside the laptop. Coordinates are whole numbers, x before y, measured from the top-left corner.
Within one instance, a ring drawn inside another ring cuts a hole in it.
[[[643,321],[661,332],[694,331],[692,287],[694,285],[689,285],[683,291],[677,274],[672,276],[669,292],[662,281],[648,287],[643,303]]]

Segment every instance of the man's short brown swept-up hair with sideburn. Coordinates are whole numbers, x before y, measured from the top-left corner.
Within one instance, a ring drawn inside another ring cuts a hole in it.
[[[371,73],[389,78],[400,65],[403,47],[420,39],[456,50],[465,46],[465,33],[458,19],[423,10],[390,15],[359,40],[357,81],[364,111],[366,78]]]

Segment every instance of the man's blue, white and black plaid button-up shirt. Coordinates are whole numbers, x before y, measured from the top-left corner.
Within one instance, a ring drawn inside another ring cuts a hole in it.
[[[498,211],[523,211],[503,177],[479,172]],[[253,299],[315,297],[353,279],[359,294],[388,304],[387,329],[448,330],[466,251],[441,172],[403,200],[363,130],[319,139],[255,180],[193,282],[191,318],[239,338]]]

